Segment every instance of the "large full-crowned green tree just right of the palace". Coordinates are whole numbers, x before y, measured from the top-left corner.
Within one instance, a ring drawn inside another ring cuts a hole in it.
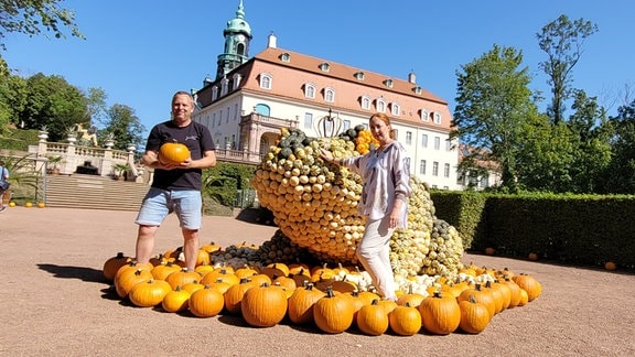
[[[531,101],[528,69],[519,69],[523,54],[512,47],[494,45],[480,58],[458,72],[458,97],[452,138],[474,149],[477,161],[499,164],[502,186],[517,191],[517,148],[524,140],[524,122],[538,115]],[[459,170],[478,170],[470,155]]]

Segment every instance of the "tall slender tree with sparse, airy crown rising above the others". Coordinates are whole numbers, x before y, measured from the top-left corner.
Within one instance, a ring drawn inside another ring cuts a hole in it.
[[[547,113],[558,123],[563,118],[564,102],[571,97],[573,67],[582,56],[584,40],[598,32],[598,25],[584,19],[573,22],[567,15],[560,15],[537,33],[540,50],[547,53],[548,60],[539,64],[551,86],[551,104]]]

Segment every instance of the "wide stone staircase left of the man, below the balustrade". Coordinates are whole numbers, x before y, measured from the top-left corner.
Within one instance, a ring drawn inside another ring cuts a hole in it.
[[[95,175],[47,175],[46,206],[139,210],[148,190],[144,183]]]

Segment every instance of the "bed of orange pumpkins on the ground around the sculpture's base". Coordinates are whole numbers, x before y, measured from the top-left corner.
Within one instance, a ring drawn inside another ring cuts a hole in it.
[[[209,256],[206,249],[218,248],[203,246],[201,257]],[[140,307],[189,311],[197,317],[226,312],[255,327],[275,326],[288,317],[293,324],[314,324],[330,334],[357,326],[373,336],[389,328],[402,336],[422,328],[437,335],[458,329],[477,334],[496,314],[541,294],[540,283],[531,275],[473,264],[464,266],[454,279],[435,277],[424,291],[416,292],[412,281],[409,289],[397,292],[396,302],[359,290],[351,278],[367,272],[356,267],[270,263],[235,269],[203,262],[189,271],[177,252],[168,251],[148,263],[137,263],[120,252],[106,260],[103,272],[119,298]]]

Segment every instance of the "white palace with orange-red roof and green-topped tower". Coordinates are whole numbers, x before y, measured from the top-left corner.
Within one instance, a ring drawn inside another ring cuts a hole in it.
[[[243,0],[223,35],[216,77],[192,90],[198,106],[193,119],[209,128],[220,160],[259,163],[280,128],[330,137],[367,127],[373,113],[386,112],[410,154],[412,175],[431,187],[463,188],[456,173],[459,143],[449,141],[448,102],[417,84],[413,73],[394,78],[280,48],[273,34],[251,57]]]

